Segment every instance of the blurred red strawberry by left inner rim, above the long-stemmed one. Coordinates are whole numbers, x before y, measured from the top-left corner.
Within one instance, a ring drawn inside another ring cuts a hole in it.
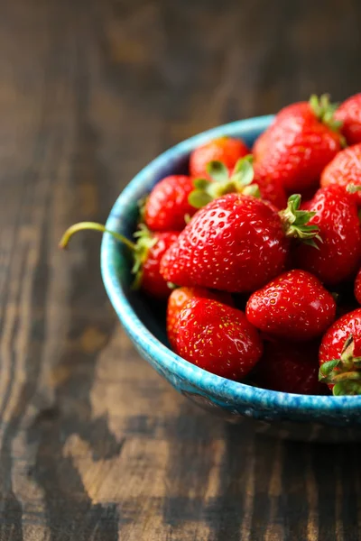
[[[184,216],[192,216],[197,211],[188,202],[193,189],[193,179],[185,175],[171,175],[162,179],[146,199],[143,210],[145,225],[153,231],[184,229]]]

